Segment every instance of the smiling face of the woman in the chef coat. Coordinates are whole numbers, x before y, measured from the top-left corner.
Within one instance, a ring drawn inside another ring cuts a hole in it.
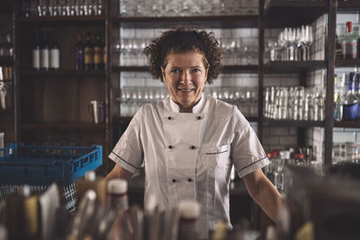
[[[192,111],[202,97],[208,75],[203,58],[196,51],[169,53],[166,56],[166,67],[161,68],[163,80],[180,111]]]

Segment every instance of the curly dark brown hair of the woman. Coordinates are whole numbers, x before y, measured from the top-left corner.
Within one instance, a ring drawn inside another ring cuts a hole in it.
[[[148,67],[153,78],[160,78],[163,82],[161,67],[166,67],[166,56],[170,52],[189,52],[200,51],[204,56],[204,66],[208,70],[208,84],[219,76],[222,69],[221,60],[222,54],[218,40],[215,39],[214,33],[195,30],[190,28],[178,28],[175,30],[164,31],[160,37],[151,41],[151,43],[144,49],[144,54],[148,57]],[[179,42],[175,39],[178,36],[193,36],[196,40]],[[196,44],[199,41],[200,44]],[[171,43],[169,43],[171,42]],[[170,45],[170,46],[167,46]],[[168,48],[166,48],[166,46]],[[164,52],[165,51],[165,52]]]

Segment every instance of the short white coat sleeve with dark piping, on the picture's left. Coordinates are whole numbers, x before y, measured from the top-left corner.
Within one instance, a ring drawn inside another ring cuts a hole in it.
[[[128,129],[122,134],[121,138],[113,147],[109,158],[116,164],[135,173],[143,162],[144,151],[141,143],[141,119],[143,118],[143,108],[130,121]]]

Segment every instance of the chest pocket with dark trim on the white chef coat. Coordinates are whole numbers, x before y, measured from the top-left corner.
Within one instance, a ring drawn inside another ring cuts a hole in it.
[[[202,154],[211,169],[229,168],[231,165],[229,145],[206,147],[203,149]]]

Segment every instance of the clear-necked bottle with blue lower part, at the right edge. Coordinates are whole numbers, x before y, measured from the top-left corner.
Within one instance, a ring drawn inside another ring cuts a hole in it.
[[[343,104],[343,120],[356,120],[359,110],[359,99],[355,93],[355,73],[350,73],[347,95]]]

